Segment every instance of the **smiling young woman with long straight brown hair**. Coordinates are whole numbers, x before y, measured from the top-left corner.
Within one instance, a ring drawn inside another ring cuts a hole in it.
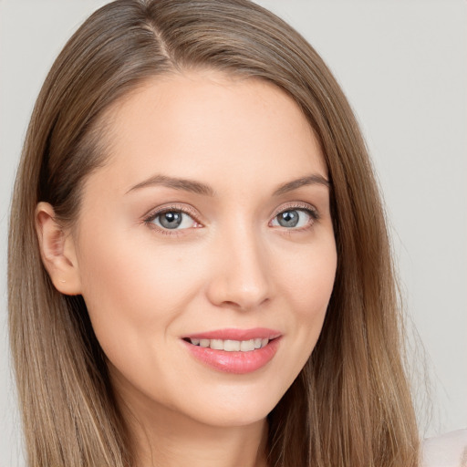
[[[119,0],[79,28],[8,280],[30,465],[417,465],[365,145],[257,5]]]

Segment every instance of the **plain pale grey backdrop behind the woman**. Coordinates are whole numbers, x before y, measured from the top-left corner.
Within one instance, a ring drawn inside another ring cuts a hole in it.
[[[78,25],[105,3],[0,0],[1,467],[25,464],[6,328],[6,237],[16,164],[47,70]],[[467,3],[260,3],[296,26],[325,58],[368,141],[413,321],[410,368],[420,436],[466,428]],[[431,411],[424,397],[428,380]]]

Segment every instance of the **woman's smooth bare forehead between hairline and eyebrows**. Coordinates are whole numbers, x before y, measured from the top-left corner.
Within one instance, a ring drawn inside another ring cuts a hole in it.
[[[122,189],[152,173],[253,184],[327,175],[303,112],[265,80],[211,71],[155,78],[109,109],[106,120],[105,170]]]

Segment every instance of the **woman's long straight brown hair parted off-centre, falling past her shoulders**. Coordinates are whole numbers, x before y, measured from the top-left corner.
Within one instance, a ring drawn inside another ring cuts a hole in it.
[[[313,354],[268,417],[270,466],[417,465],[388,233],[365,143],[317,52],[247,0],[117,0],[88,18],[47,76],[9,234],[10,338],[29,465],[133,464],[85,303],[59,294],[42,265],[35,209],[50,202],[72,223],[83,182],[105,163],[105,110],[145,80],[189,68],[284,89],[317,132],[332,184],[336,283]]]

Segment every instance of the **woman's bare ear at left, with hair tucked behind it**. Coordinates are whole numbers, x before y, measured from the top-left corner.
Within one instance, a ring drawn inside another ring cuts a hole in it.
[[[42,263],[55,288],[68,296],[80,294],[81,278],[73,237],[57,223],[54,208],[48,202],[37,204],[36,233]]]

